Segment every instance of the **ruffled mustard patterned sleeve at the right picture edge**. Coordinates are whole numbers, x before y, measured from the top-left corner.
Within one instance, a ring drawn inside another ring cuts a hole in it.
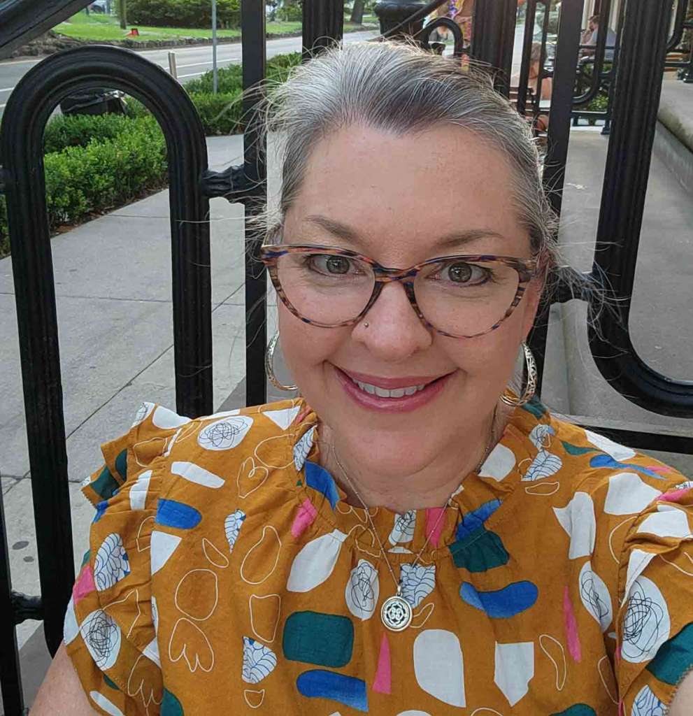
[[[619,561],[616,679],[628,716],[667,712],[693,669],[693,483],[634,521]]]

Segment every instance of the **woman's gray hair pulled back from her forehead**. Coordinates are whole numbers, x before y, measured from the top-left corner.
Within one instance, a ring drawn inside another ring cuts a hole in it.
[[[556,265],[556,216],[541,181],[541,163],[523,117],[495,92],[490,76],[459,61],[394,42],[333,47],[296,67],[268,100],[267,128],[282,137],[278,223],[289,211],[317,142],[364,125],[397,135],[449,123],[505,155],[513,170],[510,201],[543,269]]]

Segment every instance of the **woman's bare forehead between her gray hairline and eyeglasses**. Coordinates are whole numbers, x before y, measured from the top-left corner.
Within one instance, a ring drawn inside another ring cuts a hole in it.
[[[306,221],[324,216],[358,234],[358,251],[391,266],[427,258],[441,236],[478,229],[501,238],[458,253],[525,256],[512,190],[503,153],[469,130],[445,125],[398,136],[345,127],[314,147],[286,230],[291,241],[324,243],[324,231]]]

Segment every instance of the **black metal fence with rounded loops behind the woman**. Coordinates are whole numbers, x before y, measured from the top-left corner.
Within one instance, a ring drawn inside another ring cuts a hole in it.
[[[455,54],[470,54],[495,68],[496,86],[513,97],[520,112],[537,117],[539,112],[550,111],[544,182],[553,207],[560,212],[571,121],[588,95],[598,91],[603,82],[606,29],[598,37],[587,95],[576,97],[583,2],[563,2],[553,42],[555,52],[547,62],[548,18],[554,3],[527,0],[520,81],[519,87],[513,88],[510,74],[517,0],[477,0],[471,43],[452,21],[440,19],[422,28],[424,18],[443,1],[382,1],[377,8],[382,29],[392,37],[415,34],[426,47],[435,26],[448,26],[454,35]],[[602,2],[605,18],[610,4],[610,0]],[[0,59],[86,5],[87,0],[44,0],[37,8],[33,0],[9,0],[0,7]],[[543,6],[538,39],[542,46],[541,73],[539,91],[530,96],[530,52],[538,6]],[[670,379],[651,369],[636,353],[627,328],[661,77],[667,52],[675,46],[672,42],[681,41],[684,15],[679,3],[671,36],[672,0],[627,0],[624,6],[616,57],[608,72],[608,118],[612,125],[595,268],[585,277],[602,286],[609,281],[621,299],[621,315],[600,314],[591,306],[591,347],[601,373],[629,400],[661,415],[693,418],[693,382]],[[242,0],[242,17],[243,84],[246,89],[257,88],[266,66],[263,4]],[[339,39],[342,23],[341,0],[304,0],[304,47],[319,47],[327,38]],[[642,48],[648,48],[646,62],[641,61]],[[74,62],[76,59],[79,62]],[[543,77],[549,76],[553,94],[550,110],[545,110],[537,97],[541,97]],[[122,89],[139,98],[157,117],[166,137],[178,412],[193,417],[213,410],[209,227],[204,219],[209,198],[217,196],[246,205],[246,400],[248,405],[266,400],[266,277],[257,261],[261,236],[248,224],[266,199],[266,166],[258,127],[251,122],[246,130],[243,165],[211,172],[195,109],[185,91],[162,69],[133,52],[109,47],[84,47],[45,59],[26,74],[10,96],[0,128],[0,190],[6,195],[11,236],[42,591],[40,598],[29,598],[11,590],[0,501],[0,679],[7,716],[24,710],[16,624],[24,619],[43,619],[47,644],[54,652],[74,580],[42,135],[50,113],[62,98],[93,87]],[[258,98],[258,92],[247,95],[245,110],[249,115]],[[556,300],[572,297],[563,290],[558,291]],[[540,366],[546,349],[547,316],[545,306],[532,337]],[[606,427],[636,447],[693,454],[693,437]]]

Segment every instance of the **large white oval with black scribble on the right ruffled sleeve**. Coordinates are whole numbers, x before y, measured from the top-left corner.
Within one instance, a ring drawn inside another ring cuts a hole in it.
[[[672,624],[659,587],[639,576],[628,592],[621,641],[621,657],[631,664],[649,662],[669,639]]]

